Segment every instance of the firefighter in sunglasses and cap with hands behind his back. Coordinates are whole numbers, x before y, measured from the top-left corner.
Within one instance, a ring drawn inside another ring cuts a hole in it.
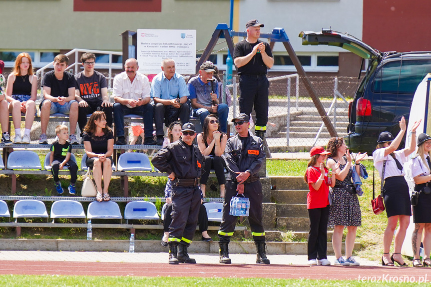
[[[198,222],[201,191],[199,178],[203,172],[203,156],[193,140],[195,127],[185,123],[181,139],[168,144],[151,162],[172,181],[172,223],[169,226],[169,264],[196,263],[187,254]]]

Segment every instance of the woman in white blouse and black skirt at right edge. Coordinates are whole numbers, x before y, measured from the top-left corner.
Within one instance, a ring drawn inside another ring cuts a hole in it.
[[[415,190],[420,192],[418,204],[413,207],[413,222],[415,229],[412,234],[412,248],[414,253],[413,266],[431,266],[431,188],[424,190],[424,187],[431,187],[430,175],[430,158],[431,158],[431,137],[428,134],[420,134],[418,136],[418,152],[416,156],[409,162],[410,170],[412,171],[413,181],[415,182]],[[425,256],[421,264],[419,248],[421,247],[422,231],[425,229],[424,235],[424,251]]]

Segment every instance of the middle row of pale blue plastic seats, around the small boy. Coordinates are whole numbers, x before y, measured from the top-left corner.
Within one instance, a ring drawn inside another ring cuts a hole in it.
[[[49,166],[49,155],[48,152],[44,160],[44,168],[50,170]],[[74,162],[76,162],[75,155],[72,153],[70,157]],[[81,169],[87,170],[85,160],[87,155],[84,154],[81,160]],[[0,156],[0,168],[4,169],[3,160]],[[6,163],[7,169],[42,169],[40,165],[39,156],[34,151],[28,150],[18,150],[13,151],[7,157]],[[67,167],[65,167],[67,168]],[[112,170],[115,170],[115,165],[112,163]],[[130,152],[123,153],[118,158],[118,171],[152,171],[150,160],[148,156],[144,153]]]

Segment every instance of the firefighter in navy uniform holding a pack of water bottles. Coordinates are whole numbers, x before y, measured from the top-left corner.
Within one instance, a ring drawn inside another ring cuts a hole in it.
[[[223,203],[223,220],[218,232],[220,263],[230,264],[228,245],[235,230],[237,217],[229,215],[230,201],[237,193],[250,200],[248,217],[253,240],[256,244],[256,263],[270,264],[265,253],[265,231],[262,225],[262,184],[259,170],[265,160],[262,139],[249,132],[250,118],[240,113],[232,120],[237,135],[228,139],[225,149],[226,166],[229,176],[226,181],[226,194]]]

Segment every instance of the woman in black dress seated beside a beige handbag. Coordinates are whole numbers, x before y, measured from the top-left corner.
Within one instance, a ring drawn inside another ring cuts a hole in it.
[[[114,134],[106,125],[106,115],[102,111],[94,111],[90,116],[82,134],[84,149],[87,154],[85,164],[93,170],[94,182],[97,187],[97,201],[108,201],[109,182],[112,176],[112,153],[114,151]],[[103,189],[102,189],[103,176]]]

